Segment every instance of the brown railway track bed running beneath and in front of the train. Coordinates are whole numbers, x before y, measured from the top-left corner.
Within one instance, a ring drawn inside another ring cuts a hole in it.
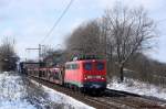
[[[160,103],[156,100],[125,91],[106,89],[102,96],[93,97],[35,77],[30,77],[30,79],[34,79],[44,86],[69,95],[96,109],[166,109],[164,102]]]

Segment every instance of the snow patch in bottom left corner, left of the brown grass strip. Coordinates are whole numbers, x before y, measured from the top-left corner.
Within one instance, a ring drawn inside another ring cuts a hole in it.
[[[35,109],[24,97],[25,89],[18,75],[0,74],[0,109]]]

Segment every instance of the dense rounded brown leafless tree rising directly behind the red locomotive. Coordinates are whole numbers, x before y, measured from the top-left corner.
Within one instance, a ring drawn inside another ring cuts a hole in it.
[[[66,41],[72,54],[102,54],[100,45],[100,26],[96,21],[80,25]]]

